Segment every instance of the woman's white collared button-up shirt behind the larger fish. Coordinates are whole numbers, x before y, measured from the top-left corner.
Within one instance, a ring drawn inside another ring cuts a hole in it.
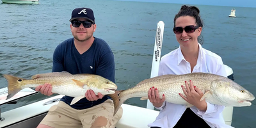
[[[225,71],[221,57],[211,51],[202,48],[200,44],[198,45],[198,59],[192,72],[207,72],[227,77],[227,73]],[[169,52],[161,58],[158,76],[165,74],[179,75],[188,73],[191,73],[190,63],[185,60],[180,47],[172,52]],[[230,125],[226,125],[223,119],[222,111],[224,108],[224,106],[214,105],[207,102],[206,111],[200,111],[195,106],[191,107],[190,109],[196,115],[203,118],[210,127],[231,127]],[[153,123],[148,124],[148,126],[172,128],[177,124],[180,117],[186,110],[186,105],[172,104],[165,101],[163,102],[163,105],[157,109],[161,109],[159,115],[157,116],[156,120]]]

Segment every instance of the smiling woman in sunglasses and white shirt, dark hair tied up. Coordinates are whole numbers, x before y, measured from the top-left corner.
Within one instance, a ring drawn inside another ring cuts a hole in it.
[[[188,74],[191,72],[208,72],[227,77],[221,57],[202,48],[198,43],[203,28],[199,15],[199,9],[195,6],[182,6],[180,12],[175,15],[173,32],[180,46],[161,58],[159,76],[165,74]],[[202,43],[202,42],[201,42]],[[187,87],[187,88],[186,88]],[[157,108],[161,109],[156,120],[148,124],[151,128],[207,128],[230,127],[225,125],[222,111],[224,106],[210,104],[205,100],[200,101],[204,93],[193,85],[192,81],[184,81],[180,85],[185,95],[180,95],[184,100],[193,104],[186,108],[185,105],[172,104],[159,99],[157,88],[148,90],[148,99]]]

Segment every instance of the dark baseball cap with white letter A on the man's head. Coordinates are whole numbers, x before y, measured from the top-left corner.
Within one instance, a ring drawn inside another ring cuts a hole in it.
[[[93,10],[90,8],[76,8],[73,10],[72,15],[71,15],[71,19],[69,21],[72,21],[74,19],[79,19],[79,18],[83,18],[83,19],[88,19],[90,21],[93,22],[93,24],[95,24],[95,18],[93,15]]]

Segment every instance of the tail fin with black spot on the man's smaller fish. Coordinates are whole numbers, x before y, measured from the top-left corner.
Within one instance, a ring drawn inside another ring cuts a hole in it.
[[[20,83],[22,83],[22,81],[26,79],[22,79],[20,77],[15,77],[7,74],[3,74],[3,76],[8,81],[8,95],[6,98],[6,100],[8,100],[23,89]]]

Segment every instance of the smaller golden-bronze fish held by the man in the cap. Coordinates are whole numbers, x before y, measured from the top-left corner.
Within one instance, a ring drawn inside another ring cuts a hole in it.
[[[52,93],[59,93],[74,97],[71,104],[85,97],[87,90],[93,90],[95,94],[102,93],[108,95],[115,93],[116,84],[95,74],[75,74],[72,75],[66,71],[50,72],[45,74],[36,74],[32,79],[22,79],[7,74],[3,76],[8,81],[8,96],[10,99],[23,88],[35,88],[39,85],[49,83],[52,85]]]

